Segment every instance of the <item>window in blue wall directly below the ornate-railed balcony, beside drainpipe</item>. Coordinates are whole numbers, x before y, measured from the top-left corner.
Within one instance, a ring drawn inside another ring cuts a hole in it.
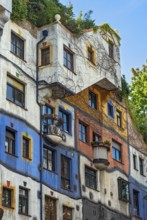
[[[44,151],[47,152],[47,156],[45,157]],[[48,152],[51,152],[51,158],[49,158]],[[46,161],[47,167],[44,166],[44,161]],[[50,168],[51,166],[51,168]],[[48,146],[43,146],[43,169],[46,169],[50,172],[55,172],[55,151],[49,148]]]

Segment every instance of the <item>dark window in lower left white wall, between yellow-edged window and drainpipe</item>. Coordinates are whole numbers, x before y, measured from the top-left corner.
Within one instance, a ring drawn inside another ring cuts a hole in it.
[[[19,214],[28,215],[29,207],[28,189],[19,187]]]

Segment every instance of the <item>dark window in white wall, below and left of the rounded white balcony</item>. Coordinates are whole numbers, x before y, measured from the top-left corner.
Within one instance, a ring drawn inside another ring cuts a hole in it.
[[[96,171],[85,167],[85,184],[91,189],[96,189]]]

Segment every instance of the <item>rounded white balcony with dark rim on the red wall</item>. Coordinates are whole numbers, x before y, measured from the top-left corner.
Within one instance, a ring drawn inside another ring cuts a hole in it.
[[[95,141],[91,143],[93,147],[93,163],[99,170],[106,169],[109,166],[108,151],[110,144],[106,142]]]

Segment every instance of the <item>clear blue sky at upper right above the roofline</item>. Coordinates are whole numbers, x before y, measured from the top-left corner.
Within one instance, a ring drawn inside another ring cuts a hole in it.
[[[121,72],[130,82],[131,68],[141,68],[147,59],[147,0],[60,0],[71,2],[75,16],[92,10],[97,25],[109,23],[121,36]]]

